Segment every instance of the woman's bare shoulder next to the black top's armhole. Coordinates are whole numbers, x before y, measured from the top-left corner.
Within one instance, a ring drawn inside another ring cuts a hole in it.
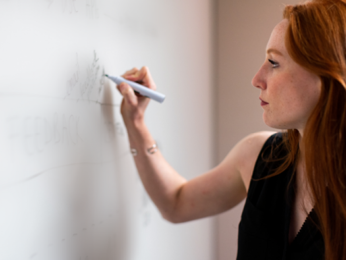
[[[230,152],[235,167],[240,172],[246,191],[249,190],[251,176],[254,171],[256,160],[265,141],[277,132],[262,131],[250,134],[240,140]]]

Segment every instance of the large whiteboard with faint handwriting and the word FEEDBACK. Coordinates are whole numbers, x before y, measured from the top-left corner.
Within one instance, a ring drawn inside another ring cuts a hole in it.
[[[214,220],[173,225],[130,155],[104,73],[150,67],[146,122],[184,177],[212,167],[209,0],[0,0],[0,259],[214,258]],[[198,95],[196,95],[198,93]]]

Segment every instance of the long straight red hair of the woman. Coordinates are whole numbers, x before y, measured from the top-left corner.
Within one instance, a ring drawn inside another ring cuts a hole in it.
[[[308,190],[319,219],[326,260],[346,260],[346,0],[287,5],[286,48],[298,64],[321,78],[320,99],[299,143],[288,129],[289,151],[273,175],[296,165],[304,151]],[[301,150],[300,150],[301,149]]]

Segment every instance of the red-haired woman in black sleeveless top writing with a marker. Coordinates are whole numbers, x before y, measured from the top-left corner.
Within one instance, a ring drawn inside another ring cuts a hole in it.
[[[146,67],[124,77],[156,89]],[[346,259],[346,0],[286,6],[252,84],[260,90],[264,122],[287,131],[247,136],[190,181],[156,149],[143,121],[149,100],[118,86],[148,194],[174,223],[223,212],[246,198],[239,260]]]

